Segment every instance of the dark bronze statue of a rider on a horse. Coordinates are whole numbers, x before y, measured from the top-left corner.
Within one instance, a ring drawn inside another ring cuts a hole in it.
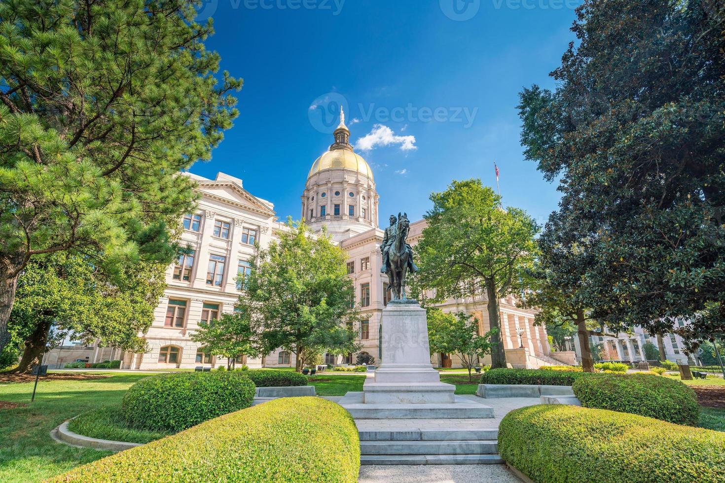
[[[385,229],[380,250],[383,253],[381,273],[388,274],[388,290],[392,291],[393,301],[406,300],[405,278],[407,272],[418,272],[413,263],[413,249],[405,243],[410,222],[407,214],[398,213],[398,217],[390,215],[390,226]]]

